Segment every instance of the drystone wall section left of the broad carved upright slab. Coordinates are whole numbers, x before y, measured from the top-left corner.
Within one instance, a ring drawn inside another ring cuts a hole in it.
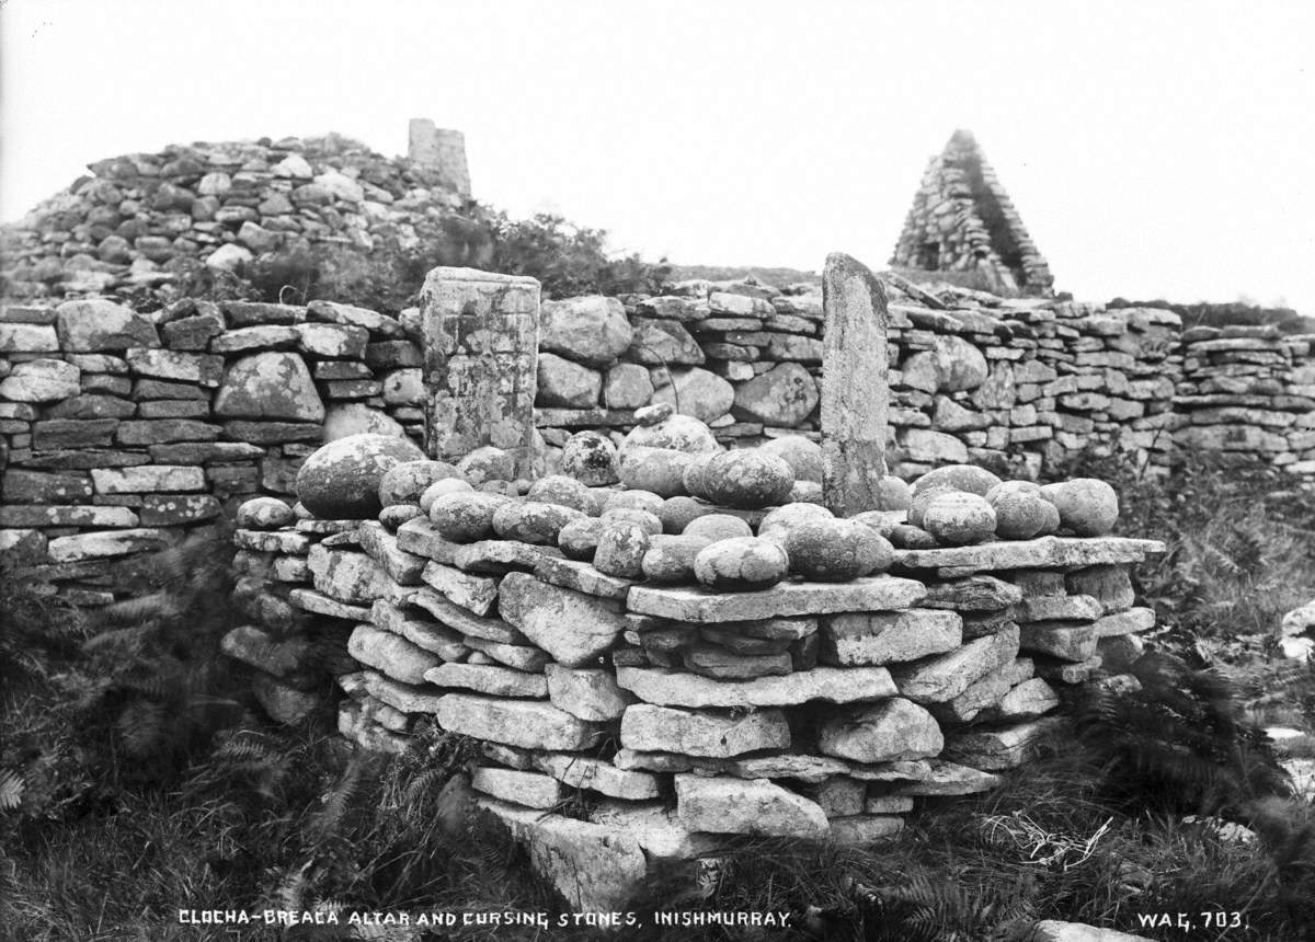
[[[289,494],[326,437],[423,434],[419,348],[396,318],[105,298],[0,307],[0,549],[87,602],[117,560]]]

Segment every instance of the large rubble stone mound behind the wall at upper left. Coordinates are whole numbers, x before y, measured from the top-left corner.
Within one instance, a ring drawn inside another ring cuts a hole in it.
[[[185,260],[233,269],[296,247],[413,248],[439,235],[438,210],[469,196],[464,152],[458,167],[458,143],[446,145],[437,160],[405,160],[330,134],[97,160],[0,230],[5,275],[18,297],[62,298],[172,286]]]

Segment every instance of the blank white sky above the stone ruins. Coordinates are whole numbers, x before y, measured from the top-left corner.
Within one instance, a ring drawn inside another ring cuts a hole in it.
[[[0,0],[0,218],[88,162],[406,122],[475,196],[698,264],[884,267],[977,135],[1084,300],[1315,314],[1310,0]]]

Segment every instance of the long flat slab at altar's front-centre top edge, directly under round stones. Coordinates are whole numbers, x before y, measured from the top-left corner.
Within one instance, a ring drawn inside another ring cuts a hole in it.
[[[635,586],[626,607],[676,621],[748,621],[797,615],[907,608],[926,595],[920,582],[869,575],[852,582],[782,582],[755,593]]]

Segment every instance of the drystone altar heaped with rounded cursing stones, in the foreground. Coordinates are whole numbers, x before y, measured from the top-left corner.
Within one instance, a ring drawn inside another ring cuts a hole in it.
[[[880,346],[880,286],[834,261],[828,330]],[[434,305],[488,280],[444,279],[464,286]],[[501,402],[529,423],[509,374],[534,360],[473,363],[484,402],[467,414]],[[825,389],[823,416],[885,398],[844,372]],[[451,414],[447,432],[473,434]],[[345,639],[355,669],[317,661],[345,694],[341,732],[393,753],[421,720],[477,741],[479,807],[576,908],[618,907],[651,858],[731,834],[867,842],[919,800],[985,791],[1026,762],[1064,684],[1122,669],[1153,624],[1128,566],[1162,547],[1109,535],[1099,481],[955,465],[910,487],[882,476],[861,416],[840,449],[831,418],[822,445],[730,451],[665,405],[634,420],[619,448],[581,432],[560,473],[531,478],[479,440],[447,461],[350,436],[305,461],[297,507],[252,501],[235,535],[252,624],[226,648],[271,712],[329,708],[299,652]],[[853,481],[873,506],[842,518]]]

